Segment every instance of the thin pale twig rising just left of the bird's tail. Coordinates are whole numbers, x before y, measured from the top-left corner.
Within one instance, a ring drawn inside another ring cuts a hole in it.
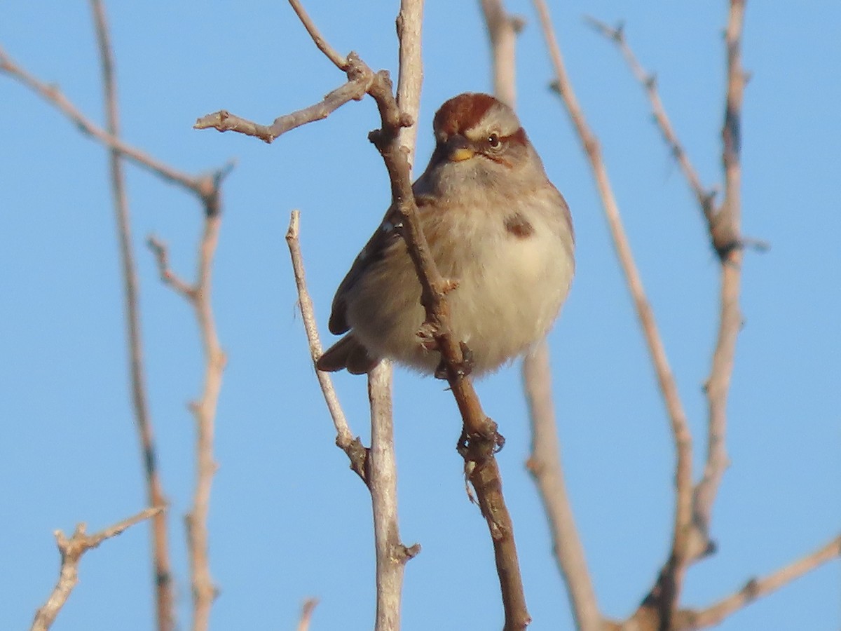
[[[299,230],[300,213],[298,210],[293,210],[292,216],[289,218],[286,242],[289,247],[289,255],[292,257],[295,284],[298,287],[298,306],[301,310],[301,317],[304,319],[304,331],[306,331],[307,340],[309,341],[309,354],[315,366],[315,362],[321,357],[321,340],[315,319],[315,306],[309,297],[309,290],[307,289],[307,279],[304,273],[304,257],[301,255],[301,244],[299,241]],[[316,370],[315,376],[318,378],[327,409],[330,411],[333,425],[336,427],[336,445],[347,454],[347,458],[351,461],[351,469],[357,472],[365,484],[368,484],[368,475],[366,474],[368,450],[362,446],[362,442],[358,437],[353,437],[351,428],[347,424],[345,412],[341,409],[339,397],[336,395],[336,389],[333,388],[333,380],[330,377],[330,373],[322,373],[320,370]]]

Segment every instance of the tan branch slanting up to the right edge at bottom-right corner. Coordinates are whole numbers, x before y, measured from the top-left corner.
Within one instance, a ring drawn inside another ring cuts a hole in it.
[[[678,612],[675,626],[678,628],[702,628],[721,623],[724,618],[727,618],[733,612],[737,612],[751,602],[767,596],[772,591],[778,590],[787,583],[795,581],[802,575],[814,570],[818,565],[837,559],[839,556],[841,556],[841,536],[833,538],[832,541],[815,550],[812,554],[807,554],[770,575],[748,581],[742,589],[711,605],[711,607]]]

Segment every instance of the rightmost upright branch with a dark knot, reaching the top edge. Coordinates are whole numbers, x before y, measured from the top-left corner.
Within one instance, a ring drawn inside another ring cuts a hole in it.
[[[742,283],[741,247],[741,120],[745,74],[742,67],[742,30],[745,0],[731,0],[727,46],[727,101],[722,128],[724,199],[711,220],[713,245],[722,257],[721,315],[710,377],[706,382],[709,426],[704,475],[696,486],[694,519],[708,538],[712,504],[727,468],[727,394],[733,375],[736,338],[742,326],[739,293]]]

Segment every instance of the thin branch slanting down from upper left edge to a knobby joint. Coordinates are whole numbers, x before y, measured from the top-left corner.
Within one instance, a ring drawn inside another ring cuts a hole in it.
[[[187,173],[177,171],[164,162],[156,160],[144,151],[140,151],[134,146],[122,141],[119,137],[109,134],[108,131],[103,130],[102,127],[94,124],[88,119],[77,107],[71,103],[61,90],[48,83],[42,82],[24,68],[19,66],[15,61],[9,57],[5,51],[0,48],[0,72],[5,72],[9,77],[23,83],[24,86],[29,87],[34,93],[37,93],[41,98],[44,98],[47,103],[61,111],[68,119],[77,125],[79,130],[83,133],[93,136],[93,138],[101,142],[104,146],[119,151],[120,155],[135,162],[140,167],[155,173],[160,178],[169,183],[179,184],[184,188],[188,188],[193,192],[201,195],[206,190],[204,188],[205,178],[188,175]]]

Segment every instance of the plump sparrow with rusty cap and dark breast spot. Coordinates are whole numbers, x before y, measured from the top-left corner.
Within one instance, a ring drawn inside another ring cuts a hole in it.
[[[452,287],[452,335],[469,349],[469,372],[481,376],[553,326],[574,276],[572,217],[505,103],[459,94],[432,128],[435,149],[412,191],[431,256]],[[442,377],[440,353],[421,334],[421,284],[401,227],[392,204],[336,290],[329,329],[345,335],[317,369],[366,374],[389,358]]]

